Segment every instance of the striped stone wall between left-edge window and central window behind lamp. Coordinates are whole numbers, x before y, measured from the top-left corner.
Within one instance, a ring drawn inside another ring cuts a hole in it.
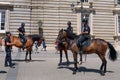
[[[38,34],[38,21],[43,25],[43,35],[47,44],[54,43],[58,31],[67,28],[67,21],[72,22],[76,32],[76,14],[70,8],[73,0],[0,0],[11,2],[14,10],[10,11],[9,28],[13,35],[18,35],[17,28],[25,22],[26,34]],[[29,6],[32,6],[32,10]],[[52,45],[53,46],[53,45]]]

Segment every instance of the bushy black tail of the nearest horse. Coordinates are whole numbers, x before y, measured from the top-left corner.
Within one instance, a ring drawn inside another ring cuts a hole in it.
[[[110,44],[109,42],[107,42],[107,44],[108,44],[109,52],[110,52],[109,59],[112,61],[115,61],[117,59],[117,52],[112,44]]]

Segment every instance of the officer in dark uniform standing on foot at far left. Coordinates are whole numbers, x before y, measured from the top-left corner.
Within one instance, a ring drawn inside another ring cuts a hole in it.
[[[11,59],[11,47],[12,43],[10,41],[10,32],[6,32],[6,38],[5,38],[5,51],[6,51],[6,57],[5,57],[5,67],[10,66],[12,67],[12,59]]]

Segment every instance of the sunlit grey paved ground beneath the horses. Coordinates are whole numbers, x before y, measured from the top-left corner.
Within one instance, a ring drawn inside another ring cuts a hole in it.
[[[119,47],[116,47],[120,51]],[[71,64],[65,65],[63,55],[63,65],[58,66],[59,54],[55,50],[40,51],[32,54],[32,62],[24,61],[25,52],[18,53],[13,50],[12,58],[15,68],[4,67],[5,53],[0,52],[0,80],[119,80],[120,79],[120,57],[112,62],[107,58],[107,73],[105,76],[99,74],[101,65],[100,59],[96,55],[88,55],[87,61],[79,66],[76,75],[73,71],[72,53],[69,52]]]

